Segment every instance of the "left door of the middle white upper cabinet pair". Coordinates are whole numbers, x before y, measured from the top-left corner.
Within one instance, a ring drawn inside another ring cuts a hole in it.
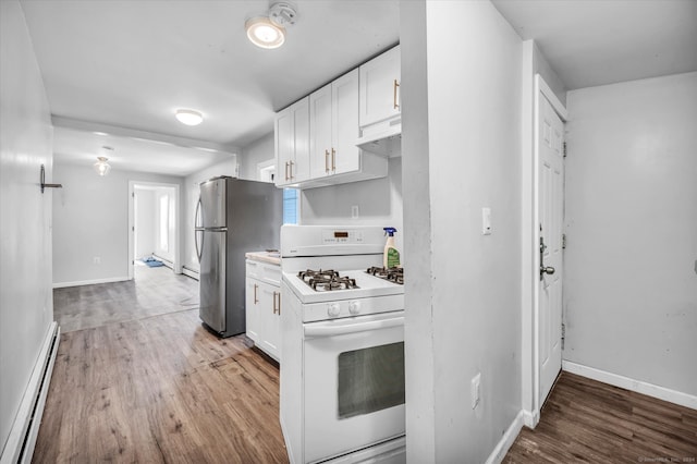
[[[311,179],[331,173],[331,84],[309,96],[309,154]]]

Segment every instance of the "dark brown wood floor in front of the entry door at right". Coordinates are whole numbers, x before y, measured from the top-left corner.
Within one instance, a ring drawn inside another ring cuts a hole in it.
[[[695,463],[697,411],[563,373],[504,463]]]

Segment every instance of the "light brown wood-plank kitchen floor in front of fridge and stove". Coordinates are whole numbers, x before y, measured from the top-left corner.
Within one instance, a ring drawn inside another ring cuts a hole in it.
[[[35,463],[284,463],[279,370],[189,309],[61,335]]]

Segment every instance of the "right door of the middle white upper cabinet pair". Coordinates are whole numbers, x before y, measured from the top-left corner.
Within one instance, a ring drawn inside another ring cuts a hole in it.
[[[335,174],[360,169],[358,138],[358,70],[339,77],[331,86],[332,151],[331,171]]]

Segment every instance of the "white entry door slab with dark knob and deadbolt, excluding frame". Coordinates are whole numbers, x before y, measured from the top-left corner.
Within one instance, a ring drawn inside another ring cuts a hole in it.
[[[539,405],[562,366],[562,221],[564,123],[547,98],[539,102]]]

